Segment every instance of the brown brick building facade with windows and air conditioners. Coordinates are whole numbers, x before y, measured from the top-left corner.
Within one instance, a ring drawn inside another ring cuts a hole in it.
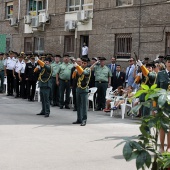
[[[0,52],[143,59],[170,54],[168,0],[0,0]]]

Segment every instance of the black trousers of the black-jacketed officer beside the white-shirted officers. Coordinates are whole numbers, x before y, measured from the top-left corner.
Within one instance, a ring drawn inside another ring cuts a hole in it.
[[[32,87],[32,89],[31,89],[31,87]],[[34,99],[35,88],[36,88],[36,81],[27,80],[27,97],[28,97],[28,99],[30,99],[30,100]]]

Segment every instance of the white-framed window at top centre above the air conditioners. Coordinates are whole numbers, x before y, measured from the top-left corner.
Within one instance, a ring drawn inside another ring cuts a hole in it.
[[[67,11],[93,10],[93,0],[67,0]]]

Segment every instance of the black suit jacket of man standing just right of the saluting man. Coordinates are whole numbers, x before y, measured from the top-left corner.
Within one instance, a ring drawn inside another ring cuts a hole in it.
[[[111,86],[113,87],[113,90],[117,89],[119,86],[123,86],[125,82],[125,73],[120,72],[119,77],[116,76],[117,72],[113,73],[112,79],[111,79]]]

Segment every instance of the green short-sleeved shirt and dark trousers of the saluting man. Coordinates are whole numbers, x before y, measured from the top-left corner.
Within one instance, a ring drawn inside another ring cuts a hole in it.
[[[112,72],[107,66],[101,67],[100,65],[97,65],[94,67],[94,74],[95,86],[97,87],[97,110],[101,110],[105,108],[108,79],[109,77],[112,77]]]

